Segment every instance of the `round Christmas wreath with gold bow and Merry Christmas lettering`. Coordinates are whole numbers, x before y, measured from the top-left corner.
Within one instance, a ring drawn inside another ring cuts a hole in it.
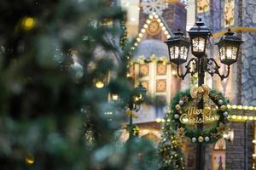
[[[197,109],[201,99],[204,100],[204,110]],[[215,105],[213,109],[209,107],[209,105],[213,104],[212,102]],[[187,137],[193,143],[212,144],[230,130],[228,127],[228,103],[229,100],[225,99],[223,94],[215,89],[208,88],[207,85],[189,88],[177,93],[172,99],[171,111],[166,114],[165,128],[172,128],[170,127],[172,124],[177,137],[180,139]],[[215,111],[215,116],[211,116],[212,110]],[[191,118],[193,116],[192,112],[195,115]],[[196,116],[198,114],[201,114],[201,118]],[[173,123],[168,123],[170,120]],[[208,129],[200,130],[196,125],[201,122],[211,122],[212,126]],[[190,127],[188,126],[189,123]]]

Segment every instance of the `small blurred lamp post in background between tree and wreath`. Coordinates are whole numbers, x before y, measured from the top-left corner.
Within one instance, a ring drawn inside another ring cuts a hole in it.
[[[147,94],[147,89],[143,87],[142,83],[140,82],[139,85],[137,86],[137,88],[133,89],[133,92],[131,93],[130,97],[129,97],[129,102],[127,105],[127,108],[130,111],[129,114],[129,127],[130,127],[130,133],[129,133],[129,138],[131,138],[131,136],[133,135],[132,133],[132,111],[139,111],[141,105],[143,104],[145,97]]]

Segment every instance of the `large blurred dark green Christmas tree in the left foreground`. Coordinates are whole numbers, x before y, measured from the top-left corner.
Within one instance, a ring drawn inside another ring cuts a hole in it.
[[[113,40],[122,9],[24,0],[1,1],[0,10],[1,169],[155,169],[153,144],[116,142],[132,89],[130,43],[120,49]],[[113,92],[120,102],[108,102]]]

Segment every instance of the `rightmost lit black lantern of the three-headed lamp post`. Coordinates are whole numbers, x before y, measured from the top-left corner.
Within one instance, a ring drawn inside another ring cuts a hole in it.
[[[224,65],[232,65],[236,63],[240,45],[243,41],[239,37],[234,35],[230,29],[223,37],[220,38],[218,45],[218,52],[220,56],[220,62]]]

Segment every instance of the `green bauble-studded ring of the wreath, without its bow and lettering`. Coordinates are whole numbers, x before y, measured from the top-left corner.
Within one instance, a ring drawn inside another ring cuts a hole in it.
[[[198,143],[206,143],[206,144],[212,144],[215,143],[218,139],[223,137],[223,133],[227,132],[229,130],[228,123],[228,115],[229,110],[227,109],[227,105],[229,104],[229,99],[224,98],[223,94],[218,92],[216,89],[211,89],[209,94],[209,98],[212,99],[215,105],[218,106],[217,109],[217,115],[219,116],[218,120],[215,122],[214,126],[212,126],[209,129],[198,129],[198,128],[188,128],[186,124],[182,123],[180,121],[180,118],[175,117],[175,115],[178,115],[180,117],[183,114],[183,105],[185,105],[187,102],[191,102],[195,99],[191,97],[190,94],[190,88],[178,92],[174,98],[172,99],[171,103],[171,110],[166,114],[166,123],[165,128],[171,129],[173,128],[174,131],[178,129],[183,128],[184,129],[184,137],[187,137],[190,141],[192,141],[195,144]],[[180,101],[182,99],[188,99],[187,101],[183,101],[183,105],[180,105]],[[181,108],[177,110],[177,105],[180,105]],[[172,123],[168,123],[171,122]],[[173,126],[173,127],[171,127]]]

